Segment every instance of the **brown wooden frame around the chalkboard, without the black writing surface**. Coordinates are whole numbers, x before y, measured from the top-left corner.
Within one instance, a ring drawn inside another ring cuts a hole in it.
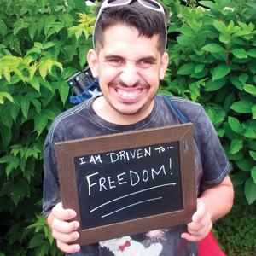
[[[142,218],[118,221],[113,224],[99,224],[96,227],[79,227],[80,245],[105,241],[120,236],[133,235],[186,224],[196,210],[195,155],[193,125],[171,125],[166,127],[131,131],[113,135],[90,137],[55,143],[61,184],[61,198],[64,208],[77,212],[75,220],[81,223],[79,193],[74,160],[84,155],[103,154],[130,148],[154,146],[162,143],[178,144],[182,209],[152,214]],[[170,199],[171,200],[171,199]]]

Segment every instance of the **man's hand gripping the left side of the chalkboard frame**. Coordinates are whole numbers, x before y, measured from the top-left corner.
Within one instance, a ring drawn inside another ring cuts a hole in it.
[[[62,203],[58,203],[50,212],[47,218],[52,236],[57,241],[57,246],[65,253],[76,253],[80,250],[79,244],[69,245],[68,242],[76,241],[79,238],[78,221],[71,221],[77,213],[71,209],[64,209]]]

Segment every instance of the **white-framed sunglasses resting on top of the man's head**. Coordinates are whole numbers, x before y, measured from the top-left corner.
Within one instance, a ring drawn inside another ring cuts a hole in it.
[[[129,5],[132,1],[133,0],[105,0],[102,3],[102,6],[98,12],[98,15],[97,15],[97,18],[95,21],[95,25],[94,25],[94,29],[96,28],[96,23],[100,19],[104,9],[109,8],[109,7],[114,7],[114,6]],[[136,0],[136,1],[148,9],[153,9],[155,11],[159,11],[163,15],[166,15],[165,10],[163,9],[162,5],[154,0]],[[94,45],[94,33],[95,33],[95,31],[93,32],[93,38],[92,38],[93,45]],[[95,45],[94,45],[94,47],[95,47]]]

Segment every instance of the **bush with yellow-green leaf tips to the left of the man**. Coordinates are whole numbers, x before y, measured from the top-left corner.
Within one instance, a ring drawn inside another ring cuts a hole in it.
[[[1,3],[0,254],[59,255],[41,216],[44,139],[70,108],[66,79],[84,68],[93,9],[84,0]]]

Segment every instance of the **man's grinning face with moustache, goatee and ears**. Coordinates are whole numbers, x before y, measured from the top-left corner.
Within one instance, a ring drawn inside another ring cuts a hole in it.
[[[95,53],[93,73],[99,77],[108,114],[148,115],[154,106],[159,79],[164,78],[168,55],[160,55],[159,35],[139,37],[137,29],[109,26],[103,48]],[[145,117],[146,117],[145,116]]]

